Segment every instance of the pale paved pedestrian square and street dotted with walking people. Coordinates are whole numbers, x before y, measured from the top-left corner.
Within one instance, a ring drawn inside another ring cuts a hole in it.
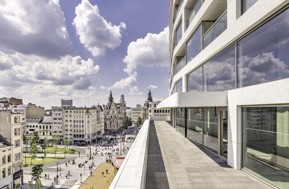
[[[127,147],[130,148],[130,146],[133,143],[127,143],[125,142],[125,148],[127,149]],[[112,147],[108,147],[107,150],[105,150],[105,147],[97,147],[97,155],[93,155],[93,152],[95,152],[96,147],[91,146],[91,157],[93,157],[93,160],[88,160],[88,156],[90,153],[90,149],[88,147],[85,146],[71,146],[71,148],[75,149],[77,151],[77,153],[75,154],[66,154],[66,159],[58,161],[58,162],[54,162],[54,163],[50,163],[50,164],[45,164],[43,165],[43,173],[42,176],[43,178],[41,178],[41,182],[42,182],[42,188],[46,188],[48,186],[50,186],[50,184],[53,182],[54,177],[56,177],[57,175],[57,163],[58,163],[58,168],[61,167],[61,171],[58,171],[58,181],[60,182],[60,185],[57,185],[56,188],[73,188],[73,189],[77,189],[78,187],[81,186],[81,184],[85,181],[85,179],[88,178],[88,176],[90,175],[90,170],[89,170],[89,166],[92,165],[92,162],[94,163],[93,168],[92,168],[92,172],[102,163],[104,163],[106,161],[106,157],[108,157],[107,155],[105,155],[105,152],[112,152],[110,149],[123,149],[123,143],[122,143],[122,147],[120,147],[120,143],[118,143],[118,145],[113,146]],[[79,154],[78,152],[80,152],[80,158],[79,158]],[[103,155],[101,155],[101,152]],[[127,153],[128,150],[125,151],[125,153]],[[123,153],[122,153],[123,154]],[[43,156],[43,154],[42,154]],[[54,154],[49,154],[48,156],[55,156]],[[64,156],[64,154],[57,154],[57,156]],[[119,155],[116,154],[116,152],[113,152],[112,155],[112,161],[117,157],[120,156],[120,152]],[[69,160],[69,163],[68,163]],[[72,160],[75,160],[75,164],[72,164]],[[84,164],[83,167],[78,167],[78,164],[82,164],[85,162],[85,160],[88,160],[87,163]],[[67,163],[67,167],[65,166],[65,163]],[[31,168],[32,166],[28,166],[28,167],[24,167],[24,185],[23,188],[24,189],[28,189],[28,181],[31,181]],[[104,170],[105,171],[105,170]],[[70,176],[68,176],[68,178],[65,178],[65,175],[70,172]],[[49,174],[49,179],[44,179],[44,175],[48,175]],[[61,174],[61,176],[60,176]],[[80,174],[82,174],[82,176],[80,177]],[[82,181],[82,183],[81,183]],[[33,181],[33,183],[35,184],[35,181]],[[33,184],[33,188],[35,188],[35,185]],[[96,188],[96,187],[95,187]]]

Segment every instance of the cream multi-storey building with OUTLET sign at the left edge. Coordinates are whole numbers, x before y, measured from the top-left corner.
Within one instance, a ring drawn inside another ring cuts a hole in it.
[[[3,183],[5,185],[4,181],[6,180],[6,176],[8,176],[7,180],[10,181],[9,177],[12,175],[13,186],[11,187],[20,188],[20,185],[23,184],[22,114],[0,112],[0,135],[2,137],[2,142],[8,147],[6,148],[4,146],[5,149],[0,148],[0,156],[2,160],[0,162],[2,172],[2,176],[0,176],[0,183],[1,185]],[[10,163],[11,161],[12,165]],[[4,185],[3,187],[5,187]]]

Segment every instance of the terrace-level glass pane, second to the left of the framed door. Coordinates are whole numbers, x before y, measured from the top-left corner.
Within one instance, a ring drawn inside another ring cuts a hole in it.
[[[202,145],[203,140],[202,108],[187,108],[187,138]]]

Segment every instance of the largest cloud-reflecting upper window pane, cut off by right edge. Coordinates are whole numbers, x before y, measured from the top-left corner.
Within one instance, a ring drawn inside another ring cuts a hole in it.
[[[237,43],[237,87],[289,77],[289,10]]]

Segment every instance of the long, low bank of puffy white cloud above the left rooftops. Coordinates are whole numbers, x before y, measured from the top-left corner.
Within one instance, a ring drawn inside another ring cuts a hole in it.
[[[16,53],[13,55],[3,55],[12,57],[19,64],[10,69],[0,71],[0,77],[11,80],[10,85],[21,86],[25,83],[44,84],[46,86],[70,85],[73,89],[87,89],[90,87],[90,78],[97,75],[99,66],[93,65],[93,60],[82,60],[80,56],[70,55],[62,57],[60,60],[43,60],[39,56],[30,56]],[[0,85],[7,86],[1,82]]]

